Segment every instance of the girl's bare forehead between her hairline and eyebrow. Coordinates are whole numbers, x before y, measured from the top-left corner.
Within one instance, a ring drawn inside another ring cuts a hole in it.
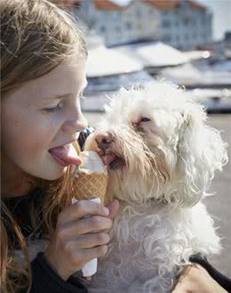
[[[73,57],[44,76],[24,83],[9,96],[17,96],[21,102],[37,101],[56,95],[77,94],[85,83],[85,61]]]

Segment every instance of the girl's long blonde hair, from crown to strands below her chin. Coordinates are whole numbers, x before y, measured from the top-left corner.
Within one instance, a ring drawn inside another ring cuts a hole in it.
[[[46,0],[1,0],[1,96],[29,80],[42,77],[74,54],[86,58],[82,31],[68,12]],[[44,197],[43,229],[48,237],[54,232],[60,210],[70,202],[70,169],[58,181],[37,184],[47,191]],[[12,257],[7,230],[12,229],[28,262],[23,270]],[[1,290],[30,290],[32,278],[28,250],[20,227],[1,200]]]

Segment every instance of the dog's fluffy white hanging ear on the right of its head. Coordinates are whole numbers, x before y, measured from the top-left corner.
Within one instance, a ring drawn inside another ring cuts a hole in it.
[[[227,163],[227,143],[219,131],[205,125],[203,107],[192,104],[182,113],[183,123],[179,134],[178,172],[180,206],[194,206],[206,196],[215,171]]]

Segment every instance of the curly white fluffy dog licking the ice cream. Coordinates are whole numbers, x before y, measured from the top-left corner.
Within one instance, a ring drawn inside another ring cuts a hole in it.
[[[122,89],[85,150],[108,166],[120,211],[90,292],[166,293],[189,257],[219,253],[202,199],[227,162],[203,107],[165,83]]]

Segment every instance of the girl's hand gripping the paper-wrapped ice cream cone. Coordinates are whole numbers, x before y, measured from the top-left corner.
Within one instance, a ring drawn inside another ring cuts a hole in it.
[[[44,256],[63,280],[68,280],[93,258],[107,253],[108,230],[112,227],[110,217],[116,215],[118,201],[107,207],[79,200],[60,213],[56,231]],[[84,218],[86,215],[94,216]]]

